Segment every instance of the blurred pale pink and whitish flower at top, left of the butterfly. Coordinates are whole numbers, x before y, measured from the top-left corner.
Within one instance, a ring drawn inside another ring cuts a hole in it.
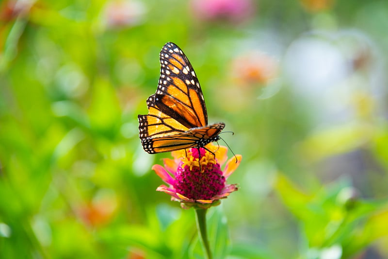
[[[104,10],[107,26],[110,28],[131,27],[143,21],[146,7],[137,0],[109,1]]]

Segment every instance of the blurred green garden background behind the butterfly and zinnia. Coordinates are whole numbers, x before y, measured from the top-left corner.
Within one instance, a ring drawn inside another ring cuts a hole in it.
[[[386,0],[1,1],[0,258],[201,258],[193,209],[155,191],[170,154],[138,137],[168,41],[243,156],[210,209],[215,258],[388,258],[387,17]]]

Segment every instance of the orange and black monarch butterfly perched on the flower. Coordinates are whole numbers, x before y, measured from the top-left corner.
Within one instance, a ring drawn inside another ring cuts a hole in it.
[[[205,147],[220,139],[222,122],[208,125],[201,86],[186,55],[167,42],[160,52],[161,76],[148,97],[147,115],[138,115],[139,136],[149,154]]]

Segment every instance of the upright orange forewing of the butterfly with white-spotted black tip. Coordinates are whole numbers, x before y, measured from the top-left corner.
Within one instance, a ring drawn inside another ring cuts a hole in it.
[[[166,43],[160,53],[161,77],[156,106],[187,128],[208,124],[201,86],[194,69],[177,45]]]

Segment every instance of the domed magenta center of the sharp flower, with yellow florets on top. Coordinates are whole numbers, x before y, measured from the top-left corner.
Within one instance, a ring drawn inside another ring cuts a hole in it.
[[[208,200],[225,187],[225,177],[214,155],[200,148],[191,148],[179,163],[175,189],[189,199]]]

